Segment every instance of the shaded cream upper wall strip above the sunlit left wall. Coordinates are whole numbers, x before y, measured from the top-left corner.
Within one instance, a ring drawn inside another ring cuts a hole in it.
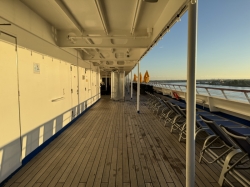
[[[18,45],[76,65],[76,50],[59,48],[56,29],[21,1],[1,0],[0,22],[12,24],[0,30],[16,36]]]

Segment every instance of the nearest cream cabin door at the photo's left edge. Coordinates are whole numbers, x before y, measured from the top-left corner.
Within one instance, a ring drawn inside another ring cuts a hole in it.
[[[18,59],[15,38],[0,40],[0,183],[21,166]]]

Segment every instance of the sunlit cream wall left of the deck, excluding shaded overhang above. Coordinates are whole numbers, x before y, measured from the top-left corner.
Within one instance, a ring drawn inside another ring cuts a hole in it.
[[[91,98],[98,94],[94,90],[97,72],[94,68],[85,73],[85,68],[71,62],[20,46],[16,53],[15,45],[0,40],[0,182],[32,151],[97,101],[99,97]]]

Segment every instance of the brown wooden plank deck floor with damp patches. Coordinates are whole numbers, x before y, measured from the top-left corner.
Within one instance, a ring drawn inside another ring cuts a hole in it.
[[[5,185],[185,186],[185,142],[135,99],[103,96]],[[196,186],[219,186],[220,168],[198,163]]]

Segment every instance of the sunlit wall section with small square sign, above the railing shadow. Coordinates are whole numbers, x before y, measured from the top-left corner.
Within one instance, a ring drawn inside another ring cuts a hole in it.
[[[22,135],[69,109],[70,67],[52,57],[19,48]],[[34,71],[39,65],[39,72]],[[65,78],[63,78],[65,77]],[[62,79],[61,79],[62,78]],[[40,112],[39,112],[40,111]]]

